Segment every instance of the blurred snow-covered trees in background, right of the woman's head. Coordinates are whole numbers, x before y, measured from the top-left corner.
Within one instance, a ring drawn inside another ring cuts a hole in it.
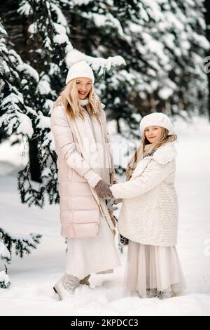
[[[73,46],[96,56],[118,52],[127,66],[99,85],[118,133],[151,111],[187,117],[207,111],[203,0],[61,1]],[[97,31],[97,35],[95,33]]]

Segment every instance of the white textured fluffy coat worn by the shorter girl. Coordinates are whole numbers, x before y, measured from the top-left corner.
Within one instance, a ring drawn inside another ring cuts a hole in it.
[[[118,219],[121,235],[141,244],[176,245],[175,158],[174,143],[166,143],[139,161],[130,181],[111,187],[113,196],[123,199]]]

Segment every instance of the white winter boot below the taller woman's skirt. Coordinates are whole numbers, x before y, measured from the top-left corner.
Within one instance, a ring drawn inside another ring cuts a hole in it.
[[[79,286],[80,280],[78,277],[64,273],[64,276],[59,279],[53,286],[53,290],[58,294],[60,300],[69,298],[75,289]]]

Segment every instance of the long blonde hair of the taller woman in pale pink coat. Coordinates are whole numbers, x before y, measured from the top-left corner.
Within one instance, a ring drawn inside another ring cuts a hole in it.
[[[89,100],[89,110],[90,116],[99,116],[99,113],[102,109],[101,102],[98,95],[94,91],[94,87],[90,89],[90,92],[87,95]],[[69,81],[68,84],[62,89],[59,97],[55,101],[53,108],[57,107],[57,105],[64,105],[64,109],[66,110],[66,114],[69,115],[71,119],[76,119],[76,117],[80,117],[84,119],[83,111],[81,109],[80,100],[78,98],[78,89],[76,86],[76,78]]]

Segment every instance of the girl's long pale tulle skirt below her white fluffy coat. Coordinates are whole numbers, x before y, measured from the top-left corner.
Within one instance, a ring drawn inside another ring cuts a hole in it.
[[[146,289],[176,295],[186,288],[175,246],[151,246],[129,241],[125,286],[146,298]]]

